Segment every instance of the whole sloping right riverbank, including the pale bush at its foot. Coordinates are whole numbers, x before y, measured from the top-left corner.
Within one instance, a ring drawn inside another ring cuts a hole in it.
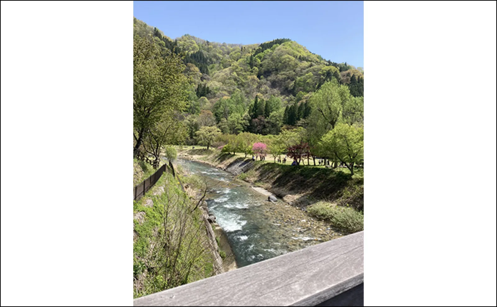
[[[183,149],[180,156],[238,174],[250,184],[263,187],[287,203],[306,208],[313,217],[353,233],[363,229],[364,178],[342,169],[291,166],[271,160],[251,161],[245,155],[221,153],[217,149]]]

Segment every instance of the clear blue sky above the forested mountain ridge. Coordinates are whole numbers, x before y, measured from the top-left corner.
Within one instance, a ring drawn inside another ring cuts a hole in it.
[[[172,39],[247,45],[289,38],[326,60],[364,67],[363,1],[133,1],[133,14]]]

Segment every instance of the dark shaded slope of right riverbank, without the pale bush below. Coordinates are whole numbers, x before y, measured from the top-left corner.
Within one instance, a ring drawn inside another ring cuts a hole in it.
[[[180,157],[225,170],[253,186],[280,197],[287,204],[306,208],[320,200],[364,208],[364,180],[331,169],[294,167],[278,163],[252,161],[240,156],[212,150],[197,155],[183,151]]]

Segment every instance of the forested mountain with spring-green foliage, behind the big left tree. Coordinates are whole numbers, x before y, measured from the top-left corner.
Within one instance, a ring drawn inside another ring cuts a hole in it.
[[[325,60],[288,38],[252,45],[209,42],[188,34],[173,40],[136,18],[133,23],[135,37],[152,42],[164,57],[177,55],[184,64],[187,99],[175,116],[182,123],[176,131],[183,131],[187,144],[196,142],[203,126],[260,135],[278,134],[285,126],[307,128],[313,110],[319,111],[320,101],[313,96],[325,91],[324,84],[330,95],[323,99],[340,101],[337,116],[362,123],[361,67]],[[326,122],[325,113],[320,114]],[[333,121],[328,121],[331,126]]]

